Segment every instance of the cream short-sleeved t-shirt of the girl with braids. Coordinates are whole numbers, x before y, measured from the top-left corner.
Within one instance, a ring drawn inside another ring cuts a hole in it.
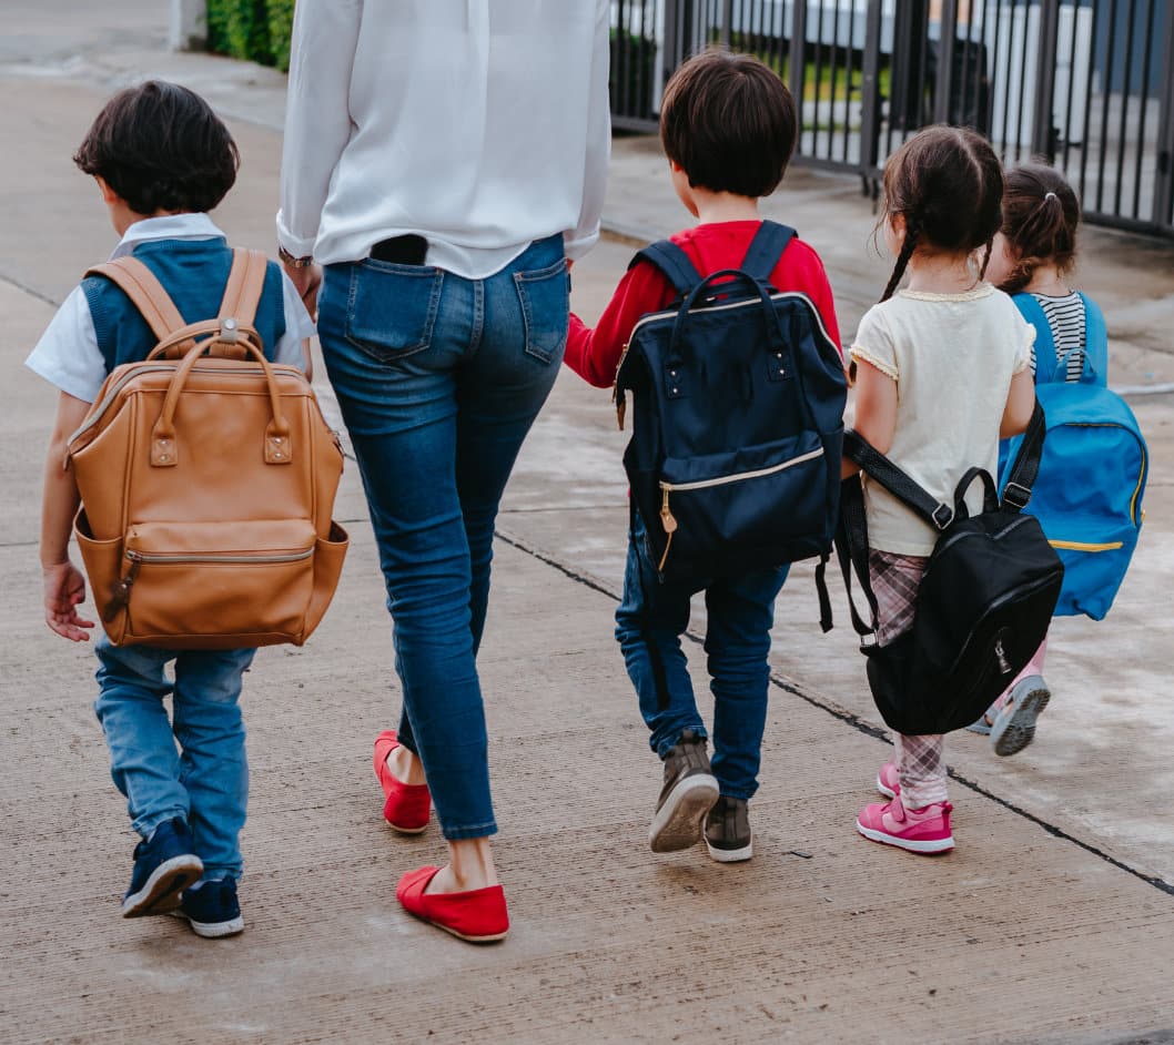
[[[1011,378],[1027,369],[1035,329],[989,283],[965,294],[898,291],[873,305],[851,346],[897,383],[897,430],[888,457],[939,501],[953,505],[967,468],[998,479],[999,424]],[[869,546],[929,555],[937,532],[864,478]],[[981,510],[981,484],[966,497]]]

